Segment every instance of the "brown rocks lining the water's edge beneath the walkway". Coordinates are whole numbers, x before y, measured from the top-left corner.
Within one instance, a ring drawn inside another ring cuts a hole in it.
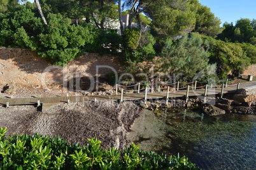
[[[225,113],[253,115],[256,114],[256,95],[233,94],[232,99],[208,97],[206,103],[199,97],[189,99],[188,103],[183,99],[170,99],[167,104],[166,100],[147,101],[146,103],[141,101],[140,106],[155,112],[160,109],[181,107],[201,110],[210,116],[224,115]]]

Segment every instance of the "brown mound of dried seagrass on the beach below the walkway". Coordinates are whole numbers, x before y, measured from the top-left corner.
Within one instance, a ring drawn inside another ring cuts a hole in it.
[[[127,132],[141,108],[126,102],[85,102],[60,104],[43,112],[34,106],[0,108],[0,127],[8,134],[59,135],[69,142],[87,143],[87,138],[102,141],[104,148],[122,149],[127,144]]]

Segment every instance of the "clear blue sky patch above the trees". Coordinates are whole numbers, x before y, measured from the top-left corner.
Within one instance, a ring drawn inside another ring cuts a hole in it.
[[[256,0],[199,0],[199,3],[211,8],[222,24],[236,24],[240,18],[256,19]]]

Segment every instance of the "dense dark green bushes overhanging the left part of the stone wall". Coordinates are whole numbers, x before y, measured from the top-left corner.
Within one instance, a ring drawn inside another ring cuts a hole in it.
[[[97,30],[91,25],[73,25],[60,13],[48,13],[48,25],[26,6],[6,15],[0,21],[1,45],[37,50],[41,57],[60,66],[89,50],[97,37]]]

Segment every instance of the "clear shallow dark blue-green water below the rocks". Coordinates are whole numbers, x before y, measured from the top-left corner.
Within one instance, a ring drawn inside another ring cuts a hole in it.
[[[162,145],[148,150],[186,155],[202,169],[256,169],[256,115],[209,117],[188,110],[159,111],[155,115],[166,124],[164,136],[157,138]]]

